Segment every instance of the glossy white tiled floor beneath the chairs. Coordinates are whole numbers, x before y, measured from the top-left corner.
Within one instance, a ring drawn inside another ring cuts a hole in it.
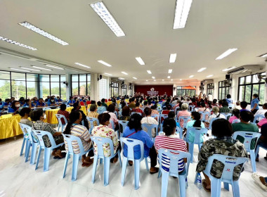
[[[2,196],[160,196],[161,179],[157,174],[150,175],[145,170],[144,161],[141,163],[140,188],[134,190],[133,167],[127,167],[126,181],[121,186],[121,167],[119,163],[110,165],[110,184],[103,186],[103,165],[98,165],[95,184],[91,183],[92,166],[82,167],[79,163],[77,181],[71,181],[72,159],[69,160],[67,175],[63,179],[62,160],[51,158],[48,172],[43,172],[43,160],[37,170],[35,165],[24,162],[24,155],[19,156],[22,138],[15,141],[0,142],[0,197]],[[260,151],[260,161],[256,163],[259,174],[267,176],[267,161],[263,159],[266,151]],[[204,189],[197,189],[193,184],[197,159],[197,146],[195,146],[194,163],[190,165],[188,177],[187,196],[210,196]],[[263,197],[267,191],[263,191],[251,178],[251,163],[245,165],[245,172],[240,178],[241,197]],[[178,179],[169,178],[168,196],[179,196]],[[230,191],[222,189],[221,196],[233,196]]]

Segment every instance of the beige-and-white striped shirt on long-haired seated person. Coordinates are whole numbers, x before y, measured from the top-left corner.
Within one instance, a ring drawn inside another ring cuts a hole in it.
[[[86,127],[82,126],[82,125],[72,125],[72,128],[70,129],[70,134],[74,135],[74,136],[78,136],[81,141],[82,141],[82,145],[84,146],[84,151],[88,151],[89,148],[92,146],[92,142],[90,139],[90,134],[88,132],[88,130],[86,129]],[[65,148],[66,151],[68,151],[68,146],[67,146],[67,141],[65,141]],[[79,145],[77,141],[72,141],[72,148],[74,153],[79,154]]]

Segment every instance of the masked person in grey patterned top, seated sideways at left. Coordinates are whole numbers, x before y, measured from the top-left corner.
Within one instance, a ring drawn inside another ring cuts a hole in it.
[[[32,113],[30,113],[30,117],[31,120],[34,121],[32,129],[50,132],[53,135],[53,139],[55,140],[56,144],[61,144],[64,142],[64,138],[61,132],[56,132],[52,128],[51,124],[44,122],[44,120],[46,119],[46,114],[44,114],[43,110],[39,109],[32,111]],[[34,138],[37,139],[37,136],[35,136]],[[45,146],[51,147],[51,142],[48,136],[44,136],[43,139]],[[55,148],[52,152],[52,155],[55,156],[55,158],[64,158],[66,153],[61,153],[61,151],[65,151],[65,144],[63,144],[63,146]]]

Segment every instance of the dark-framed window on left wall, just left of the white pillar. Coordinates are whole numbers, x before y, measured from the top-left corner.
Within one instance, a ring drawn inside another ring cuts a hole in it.
[[[72,96],[91,94],[91,74],[72,75]]]

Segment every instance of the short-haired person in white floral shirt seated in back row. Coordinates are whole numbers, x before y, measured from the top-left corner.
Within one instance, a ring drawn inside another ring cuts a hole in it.
[[[112,140],[113,142],[113,148],[114,153],[117,153],[117,151],[121,150],[121,146],[118,141],[117,132],[115,132],[113,129],[110,129],[108,125],[110,125],[110,114],[109,113],[101,113],[98,115],[99,120],[99,126],[93,127],[93,130],[91,132],[92,136],[100,136],[100,137],[106,137]],[[93,150],[94,153],[98,154],[98,147],[96,144],[93,144]],[[103,145],[103,151],[105,157],[109,157],[111,155],[110,153],[110,144],[104,144]],[[117,163],[118,155],[115,156],[115,158],[112,158],[110,160],[111,163]]]

